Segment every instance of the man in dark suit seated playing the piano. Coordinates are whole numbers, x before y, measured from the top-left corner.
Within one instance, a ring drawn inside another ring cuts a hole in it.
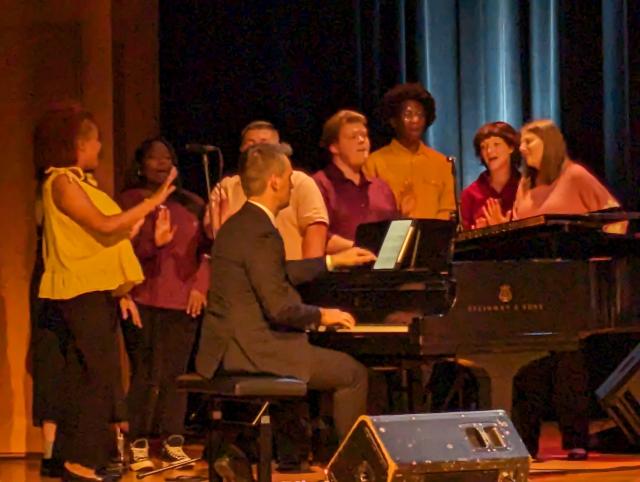
[[[212,252],[212,280],[196,368],[212,377],[227,371],[294,376],[310,389],[333,392],[334,420],[344,437],[363,414],[367,370],[349,355],[309,344],[305,331],[352,327],[346,312],[304,304],[294,286],[327,269],[371,262],[360,248],[322,258],[285,263],[274,226],[289,203],[291,150],[257,144],[240,159],[247,203],[221,227]]]

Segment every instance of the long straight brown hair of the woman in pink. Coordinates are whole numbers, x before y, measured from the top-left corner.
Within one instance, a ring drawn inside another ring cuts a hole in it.
[[[555,181],[567,159],[567,146],[564,136],[550,119],[540,119],[525,124],[521,133],[532,132],[542,140],[542,159],[540,168],[534,169],[524,163],[523,176],[525,186],[547,185]]]

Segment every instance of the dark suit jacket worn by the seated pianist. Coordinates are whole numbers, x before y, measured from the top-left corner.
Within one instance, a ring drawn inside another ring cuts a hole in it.
[[[309,380],[305,330],[320,322],[294,286],[326,271],[324,258],[285,262],[269,216],[250,202],[220,229],[211,257],[211,286],[196,370],[267,372]]]

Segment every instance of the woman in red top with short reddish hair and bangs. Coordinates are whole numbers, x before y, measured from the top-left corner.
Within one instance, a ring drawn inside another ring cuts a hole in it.
[[[518,131],[506,122],[490,122],[476,132],[473,147],[486,170],[462,191],[465,229],[487,226],[484,209],[490,199],[496,200],[503,214],[511,210],[520,182],[519,144]]]

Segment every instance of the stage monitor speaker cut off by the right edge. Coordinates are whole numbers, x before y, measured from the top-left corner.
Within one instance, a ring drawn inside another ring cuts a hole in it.
[[[640,443],[640,345],[596,390],[600,404],[631,443]]]

